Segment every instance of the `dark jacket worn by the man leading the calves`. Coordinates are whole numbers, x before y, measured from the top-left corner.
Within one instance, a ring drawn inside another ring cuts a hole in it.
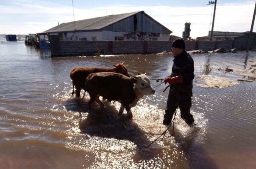
[[[185,50],[173,59],[172,77],[182,76],[182,84],[173,84],[172,87],[176,88],[180,94],[189,94],[192,96],[192,81],[195,77],[194,74],[194,61]]]

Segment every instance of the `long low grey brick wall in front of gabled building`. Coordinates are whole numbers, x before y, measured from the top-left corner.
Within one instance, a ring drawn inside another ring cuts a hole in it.
[[[186,50],[231,49],[233,41],[185,41]],[[147,54],[171,50],[172,41],[59,41],[51,38],[52,56],[95,55],[99,48],[102,54]]]

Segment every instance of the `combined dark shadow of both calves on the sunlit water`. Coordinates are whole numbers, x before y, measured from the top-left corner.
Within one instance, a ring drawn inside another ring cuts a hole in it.
[[[79,113],[79,129],[83,134],[91,136],[114,138],[121,141],[131,141],[136,145],[136,153],[133,160],[152,159],[162,153],[158,144],[150,148],[143,149],[151,141],[145,135],[145,132],[132,119],[126,118],[126,113],[118,115],[115,105],[105,102],[105,108],[98,105],[93,110],[89,109],[88,101],[80,103],[80,98],[69,99],[64,103],[67,110]],[[86,118],[83,113],[88,113]]]

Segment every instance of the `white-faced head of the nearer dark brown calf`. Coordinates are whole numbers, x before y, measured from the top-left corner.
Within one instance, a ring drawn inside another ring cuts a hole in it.
[[[151,82],[146,76],[146,73],[133,76],[131,81],[134,83],[135,88],[143,95],[153,95],[155,93],[155,89],[151,86]]]

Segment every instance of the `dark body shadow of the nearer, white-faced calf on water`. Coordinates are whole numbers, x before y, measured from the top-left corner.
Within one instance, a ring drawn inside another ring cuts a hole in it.
[[[138,124],[133,122],[132,119],[127,119],[125,115],[118,115],[114,105],[109,103],[105,103],[105,105],[106,108],[89,110],[86,119],[80,119],[79,128],[81,132],[98,137],[129,140],[135,143],[138,149],[150,143]]]

